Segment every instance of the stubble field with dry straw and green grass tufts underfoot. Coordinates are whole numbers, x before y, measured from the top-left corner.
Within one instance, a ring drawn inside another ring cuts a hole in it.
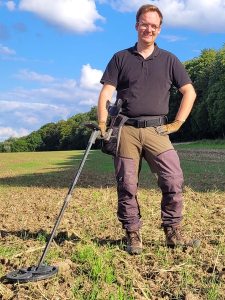
[[[176,148],[182,226],[201,240],[199,248],[165,246],[160,190],[143,162],[144,250],[129,255],[116,217],[112,158],[90,150],[44,261],[58,273],[27,283],[6,274],[38,263],[83,151],[0,153],[0,299],[225,299],[225,148]]]

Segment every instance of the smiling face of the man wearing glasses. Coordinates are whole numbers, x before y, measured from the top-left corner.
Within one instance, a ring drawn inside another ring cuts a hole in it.
[[[135,29],[137,30],[138,42],[142,42],[148,45],[153,44],[158,33],[160,33],[161,30],[161,26],[159,26],[160,23],[159,15],[155,11],[144,12],[140,15],[139,22],[142,24],[138,22],[135,24]],[[149,25],[147,29],[145,28],[146,27],[145,24]],[[153,31],[154,30],[153,28],[155,28],[155,26],[157,27],[157,29]]]

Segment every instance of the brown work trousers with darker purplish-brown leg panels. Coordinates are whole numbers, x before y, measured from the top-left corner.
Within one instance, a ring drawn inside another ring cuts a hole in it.
[[[141,214],[136,191],[142,158],[157,178],[162,192],[162,226],[177,225],[182,219],[183,183],[179,157],[168,135],[159,135],[154,127],[135,128],[123,125],[114,157],[117,182],[117,217],[126,230],[141,228]]]

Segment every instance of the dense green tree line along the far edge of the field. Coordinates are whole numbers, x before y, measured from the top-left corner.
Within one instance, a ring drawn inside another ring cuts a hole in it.
[[[204,49],[198,57],[183,62],[197,97],[187,120],[178,132],[170,135],[172,142],[224,138],[225,128],[225,44],[215,50]],[[171,88],[168,120],[178,111],[182,94]],[[90,129],[83,123],[97,123],[97,107],[78,113],[67,120],[43,125],[22,137],[9,137],[0,142],[0,152],[57,151],[85,149]],[[99,148],[95,141],[93,149]]]

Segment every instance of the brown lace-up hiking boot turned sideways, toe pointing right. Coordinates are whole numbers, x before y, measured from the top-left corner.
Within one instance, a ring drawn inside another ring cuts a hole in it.
[[[165,233],[165,243],[167,246],[190,246],[198,247],[200,245],[199,239],[190,239],[184,235],[180,225],[168,226],[163,228]]]

